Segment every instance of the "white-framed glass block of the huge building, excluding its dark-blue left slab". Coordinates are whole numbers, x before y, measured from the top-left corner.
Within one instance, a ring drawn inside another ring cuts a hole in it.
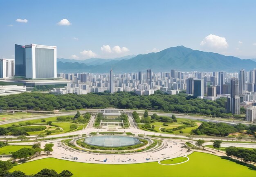
[[[31,44],[25,46],[25,77],[57,77],[57,47]]]

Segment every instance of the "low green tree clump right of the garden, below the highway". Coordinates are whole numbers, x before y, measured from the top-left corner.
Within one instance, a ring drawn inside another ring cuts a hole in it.
[[[243,124],[232,126],[223,122],[202,122],[202,124],[197,129],[192,130],[192,133],[196,135],[227,136],[230,133],[235,133],[238,131],[244,133],[244,130],[247,130],[247,134],[252,134],[255,136],[256,125],[249,125],[248,127]]]

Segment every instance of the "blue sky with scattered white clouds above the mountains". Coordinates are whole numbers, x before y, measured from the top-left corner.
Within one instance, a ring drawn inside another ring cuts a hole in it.
[[[178,45],[256,58],[254,0],[0,0],[0,9],[0,58],[14,58],[15,43],[57,46],[70,59]]]

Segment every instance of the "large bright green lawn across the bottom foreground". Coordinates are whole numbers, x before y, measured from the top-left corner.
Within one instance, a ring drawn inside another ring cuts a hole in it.
[[[161,165],[158,162],[141,164],[88,164],[55,158],[45,158],[14,166],[9,170],[20,170],[34,175],[43,168],[54,169],[58,173],[70,170],[74,177],[255,177],[256,171],[218,156],[194,152],[189,161],[177,165]],[[129,172],[127,173],[127,170]]]

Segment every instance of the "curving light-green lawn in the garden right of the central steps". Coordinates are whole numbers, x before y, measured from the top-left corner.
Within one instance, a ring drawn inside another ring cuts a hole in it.
[[[163,123],[164,122],[154,122],[152,124],[150,124],[151,126],[154,125],[155,126],[155,130],[157,132],[162,132],[160,131],[161,128],[165,128],[165,129],[173,129],[179,126],[183,126],[184,124],[182,124],[181,121],[186,121],[189,119],[183,119],[183,118],[177,118],[177,122],[172,122],[172,123],[166,123],[168,126],[164,126]],[[190,121],[190,120],[189,120]],[[196,123],[201,123],[200,121],[195,121]],[[196,129],[198,128],[199,125],[196,125],[195,127],[187,127],[186,129],[182,129],[183,133],[191,133],[192,129]],[[177,131],[173,131],[173,133],[177,134],[180,133],[180,130]]]

